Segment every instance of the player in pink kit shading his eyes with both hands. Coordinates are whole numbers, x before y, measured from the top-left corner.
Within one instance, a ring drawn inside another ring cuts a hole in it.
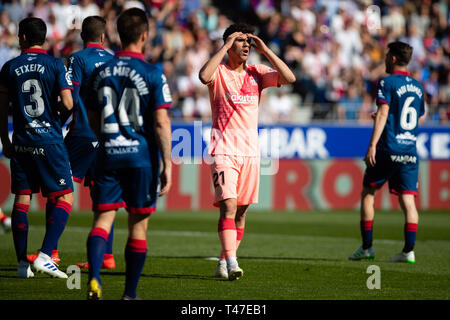
[[[222,252],[215,276],[229,280],[243,275],[236,252],[249,205],[258,202],[261,91],[295,81],[289,67],[254,32],[254,27],[244,23],[228,27],[223,34],[224,45],[199,73],[200,81],[209,88],[213,120],[209,153],[214,160],[214,205],[220,208]],[[272,68],[247,64],[252,47],[267,58]],[[222,62],[227,53],[228,59]]]

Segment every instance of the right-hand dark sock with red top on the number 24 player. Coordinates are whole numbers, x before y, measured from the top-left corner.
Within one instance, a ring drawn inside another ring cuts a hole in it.
[[[128,238],[125,246],[125,292],[124,294],[136,298],[136,289],[141,277],[142,268],[147,257],[147,240]]]

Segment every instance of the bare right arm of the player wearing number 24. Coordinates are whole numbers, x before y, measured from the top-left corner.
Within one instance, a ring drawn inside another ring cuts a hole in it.
[[[169,192],[172,185],[172,132],[170,128],[170,119],[166,109],[155,111],[155,132],[156,139],[161,151],[163,168],[161,171],[161,191],[159,196]]]

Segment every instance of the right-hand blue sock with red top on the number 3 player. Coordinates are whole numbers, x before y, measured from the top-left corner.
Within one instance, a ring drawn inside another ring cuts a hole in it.
[[[66,227],[71,209],[72,205],[66,201],[55,203],[55,207],[47,220],[47,230],[45,231],[41,252],[48,256],[52,255],[52,251],[57,247],[58,240]]]

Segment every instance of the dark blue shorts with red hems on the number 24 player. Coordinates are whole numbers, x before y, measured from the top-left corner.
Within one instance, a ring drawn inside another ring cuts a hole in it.
[[[150,214],[156,210],[158,168],[120,168],[95,170],[91,189],[96,212],[126,208],[129,213]]]

